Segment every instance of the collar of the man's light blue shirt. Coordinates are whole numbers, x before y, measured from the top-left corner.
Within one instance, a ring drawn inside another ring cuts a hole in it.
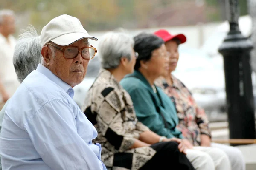
[[[55,74],[53,74],[52,71],[50,71],[48,68],[44,67],[43,65],[38,64],[36,71],[38,71],[41,74],[44,74],[46,77],[48,77],[50,80],[52,80],[52,82],[55,82],[58,86],[63,88],[64,91],[68,92],[69,95],[70,95],[71,91],[73,91],[73,89],[70,85],[68,85],[66,82],[62,81],[59,77],[57,77]],[[70,97],[73,98],[72,95]]]

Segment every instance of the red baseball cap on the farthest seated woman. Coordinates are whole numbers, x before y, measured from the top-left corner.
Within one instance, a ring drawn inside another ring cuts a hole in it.
[[[184,34],[172,35],[165,29],[160,29],[158,31],[155,31],[154,35],[156,35],[157,37],[162,38],[164,40],[164,42],[167,42],[167,41],[172,40],[174,38],[179,39],[181,44],[186,42],[186,36]]]

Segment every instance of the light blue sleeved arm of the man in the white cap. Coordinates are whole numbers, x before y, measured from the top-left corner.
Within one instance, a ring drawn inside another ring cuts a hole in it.
[[[100,153],[100,148],[91,144],[93,126],[84,123],[88,134],[87,139],[82,139],[68,103],[47,102],[28,119],[24,127],[38,154],[52,170],[103,170],[95,154]]]

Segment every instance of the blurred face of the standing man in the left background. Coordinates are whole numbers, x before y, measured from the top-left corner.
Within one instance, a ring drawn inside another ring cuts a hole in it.
[[[15,17],[13,16],[4,16],[3,23],[0,24],[1,32],[5,35],[15,33]]]

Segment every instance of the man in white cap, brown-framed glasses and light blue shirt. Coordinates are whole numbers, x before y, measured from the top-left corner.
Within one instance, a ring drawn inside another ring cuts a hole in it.
[[[106,170],[97,136],[73,87],[84,79],[96,54],[80,21],[52,19],[41,32],[42,61],[12,96],[0,137],[3,169]]]

